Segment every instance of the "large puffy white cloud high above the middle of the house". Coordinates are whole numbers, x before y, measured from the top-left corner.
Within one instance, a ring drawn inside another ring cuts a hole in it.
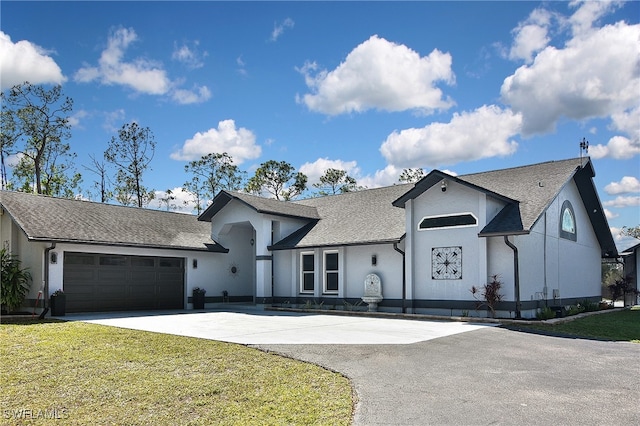
[[[451,55],[437,49],[420,57],[407,46],[374,35],[353,49],[335,70],[317,68],[307,63],[298,69],[312,92],[298,97],[298,102],[312,111],[337,115],[379,109],[428,114],[453,105],[436,87],[437,82],[455,82]]]

